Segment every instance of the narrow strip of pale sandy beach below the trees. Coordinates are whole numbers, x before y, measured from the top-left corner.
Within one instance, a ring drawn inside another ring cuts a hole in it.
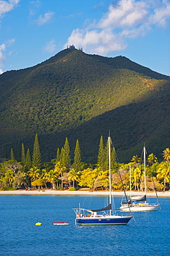
[[[34,196],[34,195],[51,195],[51,196],[104,196],[108,195],[109,192],[107,191],[88,191],[88,190],[76,190],[76,191],[68,191],[68,190],[5,190],[0,191],[0,196],[2,195],[28,195],[28,196]],[[123,191],[113,191],[111,192],[113,196],[124,196]],[[126,191],[127,196],[129,196],[129,191]],[[141,191],[132,191],[131,195],[138,196],[143,195],[144,192]],[[159,198],[170,198],[170,191],[166,192],[157,192]],[[156,197],[156,192],[147,192],[147,197]]]

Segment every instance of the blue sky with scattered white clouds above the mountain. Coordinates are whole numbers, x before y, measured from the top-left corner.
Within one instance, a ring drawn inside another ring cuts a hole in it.
[[[72,44],[170,75],[170,0],[0,0],[0,74]]]

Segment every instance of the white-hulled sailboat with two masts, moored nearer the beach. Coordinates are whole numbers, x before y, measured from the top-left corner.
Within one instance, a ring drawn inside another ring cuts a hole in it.
[[[144,154],[144,176],[145,176],[145,194],[143,196],[131,196],[131,167],[130,167],[130,197],[126,202],[122,202],[120,210],[124,212],[145,212],[145,211],[156,211],[160,208],[158,201],[155,204],[147,203],[147,183],[146,183],[146,148],[143,148]]]

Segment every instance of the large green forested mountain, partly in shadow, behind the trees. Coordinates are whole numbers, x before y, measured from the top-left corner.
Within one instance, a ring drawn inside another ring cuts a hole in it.
[[[21,158],[39,134],[43,161],[56,157],[65,138],[76,139],[82,160],[96,163],[100,136],[109,130],[120,161],[148,153],[161,158],[170,145],[170,77],[126,57],[87,55],[74,47],[49,60],[0,75],[0,158],[11,147]]]

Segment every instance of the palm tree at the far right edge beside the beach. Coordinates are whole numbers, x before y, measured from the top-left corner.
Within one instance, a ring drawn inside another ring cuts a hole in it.
[[[161,162],[157,172],[158,172],[157,178],[164,179],[164,190],[165,190],[166,181],[170,183],[170,162],[169,161]]]

